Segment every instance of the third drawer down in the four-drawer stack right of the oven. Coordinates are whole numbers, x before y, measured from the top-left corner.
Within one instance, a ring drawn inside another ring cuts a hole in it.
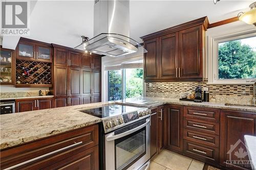
[[[184,139],[219,148],[219,136],[184,129]]]

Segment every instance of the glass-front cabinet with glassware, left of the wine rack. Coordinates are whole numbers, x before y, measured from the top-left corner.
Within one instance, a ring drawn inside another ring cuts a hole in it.
[[[13,84],[13,51],[1,48],[0,50],[0,84]]]

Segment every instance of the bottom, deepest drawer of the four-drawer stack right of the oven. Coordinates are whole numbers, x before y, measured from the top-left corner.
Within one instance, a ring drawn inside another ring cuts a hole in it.
[[[193,157],[203,162],[219,162],[219,149],[214,147],[184,140],[183,152],[186,156]]]

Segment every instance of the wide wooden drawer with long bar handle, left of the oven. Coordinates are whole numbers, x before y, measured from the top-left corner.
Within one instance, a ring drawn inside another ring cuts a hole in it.
[[[78,153],[95,145],[98,145],[98,125],[69,131],[3,150],[1,151],[1,168],[4,169],[22,163],[14,169],[23,169],[38,162],[45,162],[44,166],[48,166],[54,163],[53,161],[48,161],[50,159],[53,160],[53,157],[56,157],[56,162],[69,157],[70,152]]]

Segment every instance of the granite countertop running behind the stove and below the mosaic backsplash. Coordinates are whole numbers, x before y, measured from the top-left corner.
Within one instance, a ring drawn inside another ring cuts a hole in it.
[[[256,107],[225,106],[224,103],[215,103],[215,102],[196,103],[196,102],[189,102],[189,101],[180,101],[179,99],[172,99],[172,98],[143,97],[143,98],[130,98],[125,100],[120,100],[119,102],[129,103],[131,101],[136,101],[138,99],[159,102],[159,104],[154,104],[151,107],[160,106],[163,104],[175,104],[175,105],[184,105],[184,106],[199,106],[199,107],[210,107],[210,108],[229,109],[229,110],[250,111],[250,112],[255,112],[256,114]]]

